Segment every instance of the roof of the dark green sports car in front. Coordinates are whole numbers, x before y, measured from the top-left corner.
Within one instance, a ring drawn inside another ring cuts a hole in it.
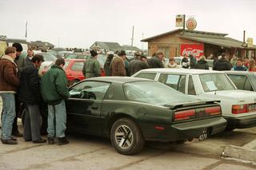
[[[152,81],[146,78],[137,78],[137,77],[92,77],[85,79],[90,81],[109,81],[109,82],[118,82],[118,83],[126,83],[126,82],[134,82],[134,81]]]

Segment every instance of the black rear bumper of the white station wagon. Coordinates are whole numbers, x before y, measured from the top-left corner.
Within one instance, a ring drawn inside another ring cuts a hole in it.
[[[251,128],[256,126],[256,115],[246,117],[224,117],[229,128]]]

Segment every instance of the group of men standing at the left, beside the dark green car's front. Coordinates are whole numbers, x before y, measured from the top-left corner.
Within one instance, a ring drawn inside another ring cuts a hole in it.
[[[43,57],[28,49],[27,57],[19,57],[22,45],[15,42],[7,47],[0,59],[0,97],[2,97],[2,144],[18,144],[17,137],[34,144],[42,139],[42,103],[48,106],[48,144],[68,144],[66,132],[65,100],[69,97],[65,60],[59,57],[50,70],[39,77],[38,68]],[[18,131],[18,116],[23,117],[23,134]]]

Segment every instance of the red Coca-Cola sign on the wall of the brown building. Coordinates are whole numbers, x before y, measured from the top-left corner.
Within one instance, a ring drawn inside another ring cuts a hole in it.
[[[203,55],[203,45],[202,44],[182,44],[181,45],[181,56],[189,56],[190,53],[194,57],[199,58]]]

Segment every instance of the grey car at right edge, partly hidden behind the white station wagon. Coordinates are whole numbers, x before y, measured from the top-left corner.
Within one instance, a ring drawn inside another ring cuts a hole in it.
[[[256,91],[256,73],[246,71],[226,71],[238,89]]]

